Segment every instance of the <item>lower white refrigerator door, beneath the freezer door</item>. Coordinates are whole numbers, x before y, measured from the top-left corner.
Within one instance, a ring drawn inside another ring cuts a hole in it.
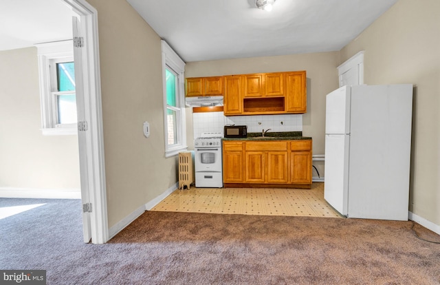
[[[349,135],[325,135],[324,198],[342,215],[349,200]]]

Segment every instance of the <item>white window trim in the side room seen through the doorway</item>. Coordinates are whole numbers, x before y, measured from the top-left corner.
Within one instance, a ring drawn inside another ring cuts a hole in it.
[[[38,43],[37,54],[39,60],[39,79],[40,79],[40,102],[41,102],[41,131],[44,136],[63,136],[77,135],[78,127],[76,124],[56,126],[56,118],[52,111],[52,90],[50,63],[58,59],[73,61],[74,45],[72,40],[56,41],[52,43]]]

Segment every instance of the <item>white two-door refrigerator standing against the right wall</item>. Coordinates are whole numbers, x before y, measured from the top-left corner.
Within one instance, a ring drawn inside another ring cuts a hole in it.
[[[326,96],[324,198],[348,218],[408,220],[412,85]]]

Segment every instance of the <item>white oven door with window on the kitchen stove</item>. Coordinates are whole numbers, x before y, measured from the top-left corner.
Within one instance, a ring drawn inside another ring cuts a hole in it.
[[[195,150],[196,172],[221,172],[221,148]]]

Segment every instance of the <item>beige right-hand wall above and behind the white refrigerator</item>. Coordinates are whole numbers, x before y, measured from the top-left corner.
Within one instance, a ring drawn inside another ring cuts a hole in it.
[[[415,86],[410,211],[440,225],[440,1],[397,1],[341,50],[341,62],[360,50],[366,84]]]

